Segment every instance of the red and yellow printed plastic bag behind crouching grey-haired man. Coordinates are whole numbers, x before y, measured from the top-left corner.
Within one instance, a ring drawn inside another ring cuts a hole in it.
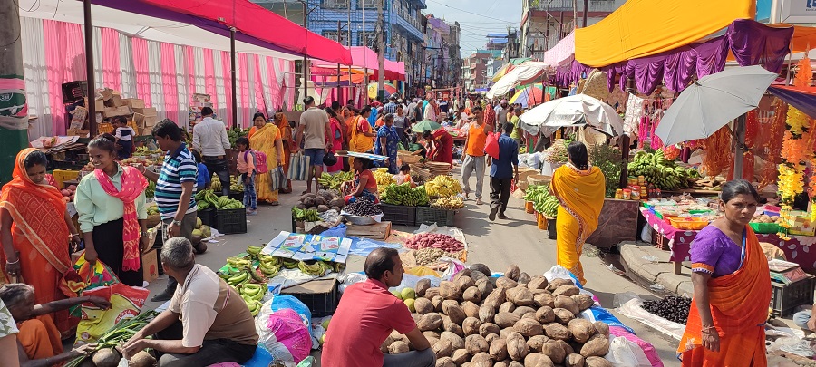
[[[76,343],[93,343],[121,320],[141,313],[141,307],[150,293],[145,288],[121,283],[84,290],[83,295],[96,295],[108,300],[111,308],[102,310],[93,304],[82,304],[82,320],[76,327]]]

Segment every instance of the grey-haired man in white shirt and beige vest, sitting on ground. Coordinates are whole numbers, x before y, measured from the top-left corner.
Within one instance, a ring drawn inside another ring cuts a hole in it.
[[[257,348],[255,320],[234,288],[196,264],[189,240],[172,237],[161,247],[164,272],[179,281],[168,309],[122,346],[127,357],[145,349],[159,366],[245,363]],[[153,335],[153,339],[146,339]]]

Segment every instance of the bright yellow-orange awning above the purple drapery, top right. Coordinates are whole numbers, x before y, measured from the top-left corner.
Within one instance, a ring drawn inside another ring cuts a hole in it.
[[[662,53],[753,19],[751,0],[628,0],[597,24],[575,30],[575,59],[591,67]]]

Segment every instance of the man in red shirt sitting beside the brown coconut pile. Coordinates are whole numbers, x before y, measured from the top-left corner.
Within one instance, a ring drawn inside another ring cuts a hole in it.
[[[357,159],[355,159],[356,161]],[[388,291],[403,281],[403,261],[393,248],[379,247],[366,258],[368,280],[345,288],[323,345],[323,367],[433,367],[431,343],[416,327],[411,311]],[[396,330],[412,352],[384,355],[380,345]]]

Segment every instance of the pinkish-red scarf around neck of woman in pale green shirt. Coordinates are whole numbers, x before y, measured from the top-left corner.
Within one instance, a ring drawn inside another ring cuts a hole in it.
[[[105,193],[118,198],[124,205],[124,229],[121,232],[124,241],[124,256],[121,259],[123,271],[139,270],[139,216],[136,213],[136,198],[147,188],[147,179],[138,170],[129,166],[121,168],[121,190],[117,190],[111,178],[102,169],[95,169],[93,174]]]

